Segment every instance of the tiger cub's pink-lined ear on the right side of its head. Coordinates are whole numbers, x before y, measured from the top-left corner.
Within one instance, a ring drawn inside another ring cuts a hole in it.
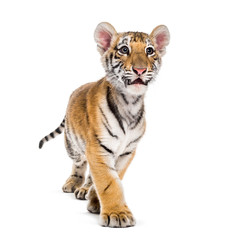
[[[157,26],[150,34],[150,37],[154,41],[156,50],[160,53],[160,56],[164,56],[165,47],[170,41],[170,33],[168,28],[165,25]]]

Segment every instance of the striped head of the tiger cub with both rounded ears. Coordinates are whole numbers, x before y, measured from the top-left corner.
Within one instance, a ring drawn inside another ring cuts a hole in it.
[[[142,32],[117,33],[106,22],[95,30],[95,41],[102,56],[107,80],[118,90],[144,94],[161,66],[161,57],[169,44],[166,26],[154,28],[150,35]]]

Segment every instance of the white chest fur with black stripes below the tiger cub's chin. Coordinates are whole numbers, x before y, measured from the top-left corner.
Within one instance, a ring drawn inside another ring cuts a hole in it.
[[[116,111],[103,102],[101,143],[113,152],[115,158],[132,152],[145,131],[143,96],[119,95]]]

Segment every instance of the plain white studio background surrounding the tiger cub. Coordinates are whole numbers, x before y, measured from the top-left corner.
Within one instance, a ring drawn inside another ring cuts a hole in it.
[[[0,2],[1,239],[237,239],[235,1]],[[146,95],[147,132],[123,180],[137,225],[109,229],[64,194],[62,121],[78,86],[104,76],[93,39],[168,26]]]

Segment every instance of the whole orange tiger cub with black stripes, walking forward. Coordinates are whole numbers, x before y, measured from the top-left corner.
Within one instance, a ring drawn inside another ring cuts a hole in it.
[[[87,209],[100,213],[102,226],[130,227],[135,219],[121,180],[145,132],[144,95],[160,69],[169,31],[160,25],[150,35],[117,33],[102,22],[94,37],[106,76],[72,93],[63,122],[40,141],[39,148],[64,131],[73,166],[63,191],[88,199]]]

